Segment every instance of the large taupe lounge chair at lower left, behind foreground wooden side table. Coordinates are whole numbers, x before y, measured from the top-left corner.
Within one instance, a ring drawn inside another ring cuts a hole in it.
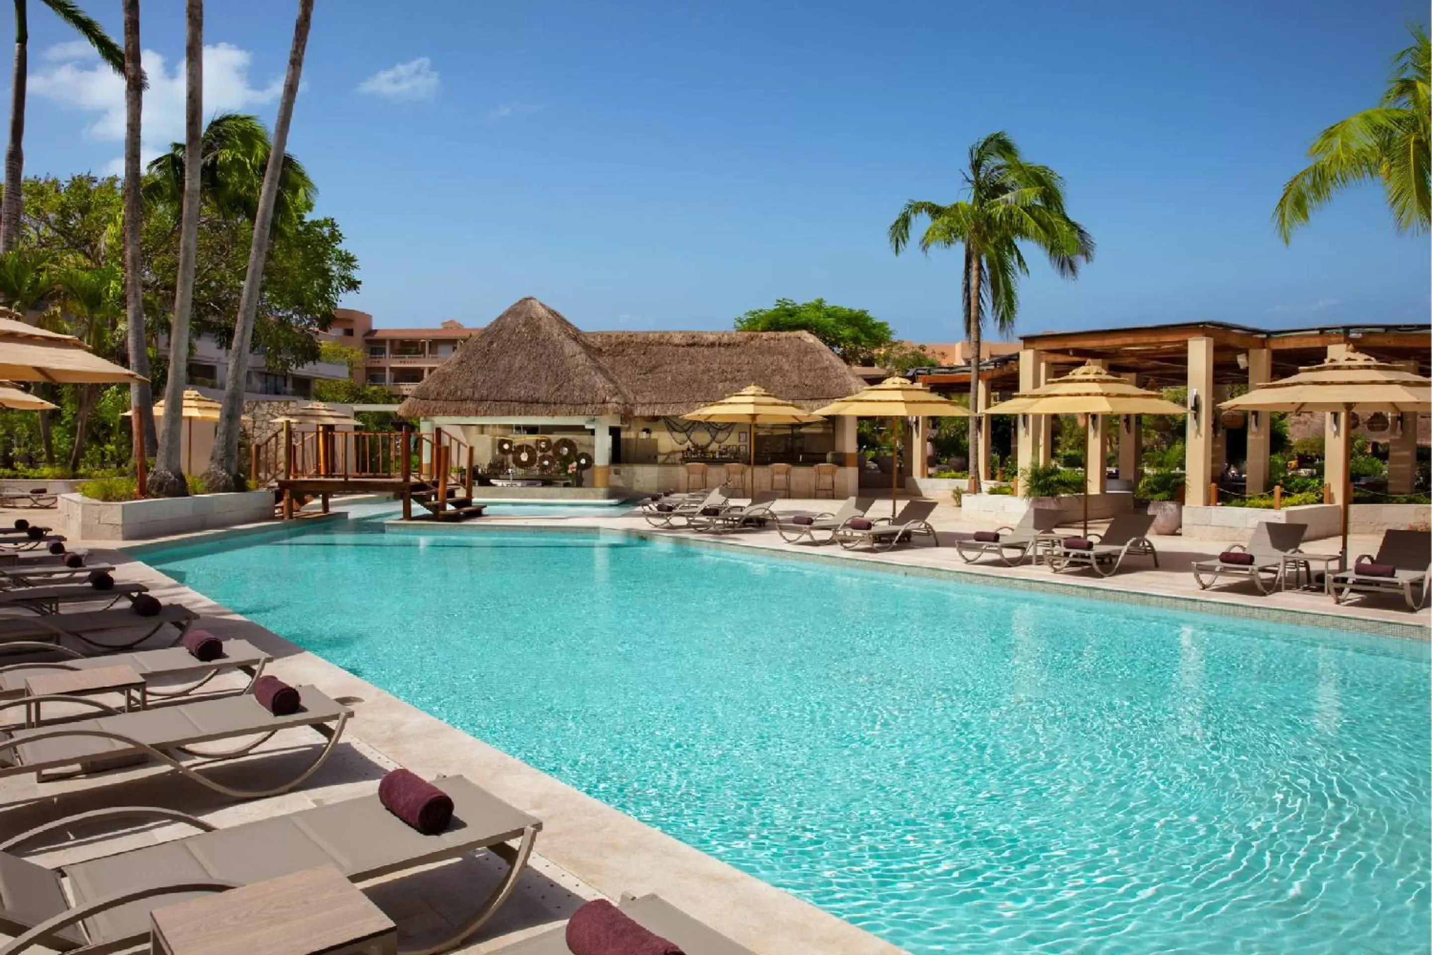
[[[531,855],[541,822],[463,776],[434,785],[453,798],[451,825],[422,835],[388,812],[377,795],[301,809],[286,816],[219,829],[170,809],[99,809],[44,823],[0,843],[0,931],[17,938],[6,952],[44,944],[57,949],[117,951],[149,942],[149,913],[166,905],[239,885],[331,865],[365,883],[487,849],[507,875],[450,938],[424,949],[440,952],[475,932],[511,896]],[[54,869],[24,859],[29,843],[46,848],[57,835],[96,823],[132,820],[185,823],[198,833]],[[507,845],[520,840],[517,848]]]

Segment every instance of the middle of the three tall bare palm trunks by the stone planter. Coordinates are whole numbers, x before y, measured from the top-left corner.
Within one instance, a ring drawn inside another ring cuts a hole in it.
[[[199,157],[203,137],[203,0],[188,0],[188,42],[185,44],[183,210],[179,218],[179,276],[175,282],[175,321],[169,329],[169,381],[165,385],[165,430],[159,437],[159,461],[150,478],[150,493],[183,497],[189,488],[183,478],[183,407],[189,384],[189,312],[193,308],[193,279],[199,256]]]

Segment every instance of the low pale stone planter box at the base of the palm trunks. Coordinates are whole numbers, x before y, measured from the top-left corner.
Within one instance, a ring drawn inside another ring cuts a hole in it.
[[[62,494],[59,523],[66,537],[84,541],[122,541],[236,527],[272,518],[272,491],[199,494],[143,501],[95,501],[80,494]]]

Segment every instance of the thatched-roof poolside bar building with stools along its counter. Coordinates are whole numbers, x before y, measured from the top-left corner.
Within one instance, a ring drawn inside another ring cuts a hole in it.
[[[682,418],[749,385],[813,409],[862,382],[808,332],[583,332],[524,298],[415,385],[398,414],[420,418],[424,432],[460,434],[500,483],[614,497],[720,484],[749,494],[775,480],[792,497],[853,494],[852,418],[753,435]],[[550,448],[564,440],[590,455],[589,470],[561,465]]]

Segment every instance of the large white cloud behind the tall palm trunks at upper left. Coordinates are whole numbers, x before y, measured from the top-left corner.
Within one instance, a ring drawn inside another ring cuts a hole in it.
[[[84,50],[79,47],[83,46]],[[60,43],[44,52],[44,59],[57,63],[29,77],[30,92],[83,113],[97,113],[84,127],[84,135],[102,142],[123,142],[125,139],[125,80],[109,66],[100,63],[89,50],[89,44]],[[185,107],[185,63],[179,60],[173,70],[153,50],[142,54],[149,89],[145,90],[143,157],[149,162],[169,147],[169,143],[183,139]],[[203,115],[215,116],[228,112],[252,112],[258,106],[278,100],[284,90],[284,77],[278,76],[266,86],[249,83],[249,66],[253,54],[229,43],[203,47]],[[107,172],[122,172],[123,160],[113,160]]]

